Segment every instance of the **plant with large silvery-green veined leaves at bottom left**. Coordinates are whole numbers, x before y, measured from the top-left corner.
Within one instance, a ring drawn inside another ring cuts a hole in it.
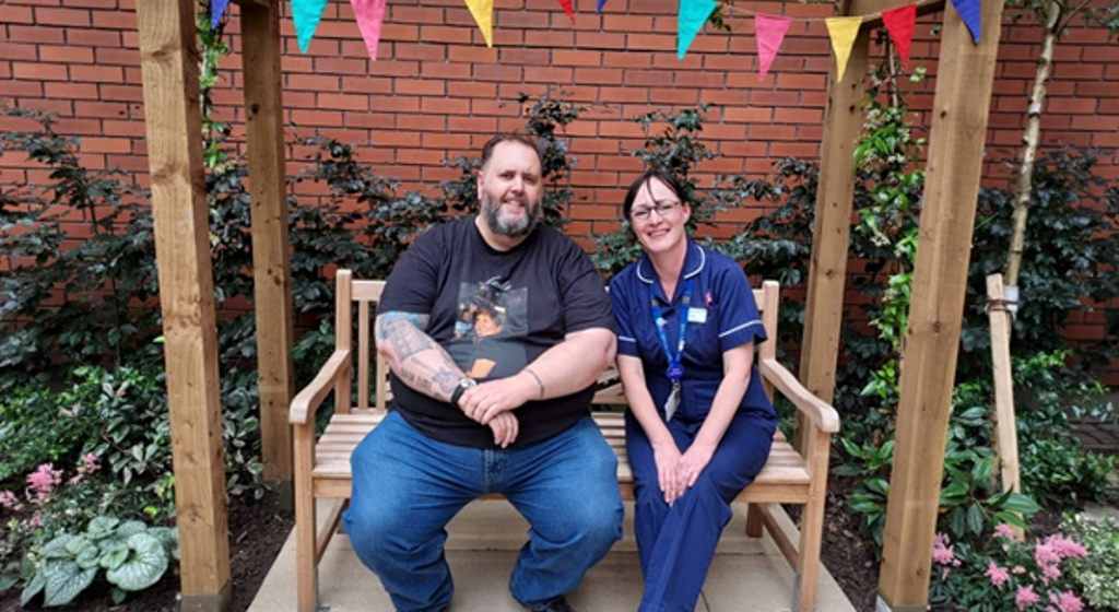
[[[35,574],[20,596],[23,605],[39,593],[46,606],[66,605],[101,573],[120,603],[129,592],[159,582],[170,561],[179,558],[179,537],[173,528],[103,516],[82,533],[59,534],[34,555]]]

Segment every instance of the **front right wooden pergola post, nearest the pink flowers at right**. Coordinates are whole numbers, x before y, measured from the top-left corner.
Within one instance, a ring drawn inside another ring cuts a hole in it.
[[[975,207],[1003,2],[982,2],[980,43],[944,12],[924,207],[886,506],[881,604],[924,610],[963,319]]]

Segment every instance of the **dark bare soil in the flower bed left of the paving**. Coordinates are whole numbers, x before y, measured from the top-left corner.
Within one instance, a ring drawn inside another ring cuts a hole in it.
[[[263,499],[229,500],[229,568],[233,577],[233,602],[229,612],[244,612],[253,603],[272,562],[280,554],[288,534],[295,524],[291,510],[280,508],[275,496]],[[0,612],[48,611],[41,596],[19,605],[19,591],[0,595]],[[102,583],[90,586],[78,601],[63,608],[68,612],[178,612],[179,576],[168,574],[154,586],[130,594],[120,605],[112,603],[110,590]]]

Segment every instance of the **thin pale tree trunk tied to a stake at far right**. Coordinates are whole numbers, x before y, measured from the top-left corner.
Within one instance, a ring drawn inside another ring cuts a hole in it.
[[[1045,2],[1045,35],[1042,37],[1034,87],[1029,93],[1026,131],[1022,136],[1022,159],[1014,197],[1014,234],[1010,236],[1010,253],[1006,262],[1007,286],[1017,288],[1018,272],[1022,270],[1022,251],[1026,243],[1026,220],[1029,218],[1029,198],[1033,192],[1034,159],[1041,140],[1042,106],[1045,104],[1045,91],[1053,73],[1053,47],[1060,32],[1061,9],[1056,0]]]

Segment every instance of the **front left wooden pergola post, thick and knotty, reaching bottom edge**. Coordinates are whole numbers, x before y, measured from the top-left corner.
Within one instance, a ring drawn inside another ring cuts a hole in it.
[[[192,0],[137,2],[184,608],[224,610],[229,535]]]

